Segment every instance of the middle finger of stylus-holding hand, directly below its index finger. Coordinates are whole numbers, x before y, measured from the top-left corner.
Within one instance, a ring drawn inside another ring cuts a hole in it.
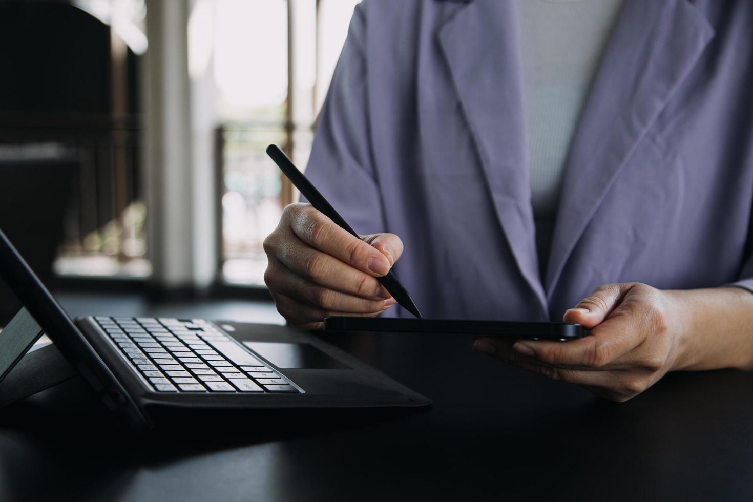
[[[361,272],[336,257],[323,253],[291,235],[268,254],[286,269],[325,288],[372,300],[386,299],[391,294],[373,275]],[[267,284],[269,285],[269,284]]]

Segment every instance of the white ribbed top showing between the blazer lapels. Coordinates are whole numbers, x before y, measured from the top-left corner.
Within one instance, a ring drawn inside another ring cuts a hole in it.
[[[515,0],[539,269],[544,275],[565,161],[623,0]]]

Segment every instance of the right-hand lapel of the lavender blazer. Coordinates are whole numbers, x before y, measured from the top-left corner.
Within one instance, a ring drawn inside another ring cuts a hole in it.
[[[562,269],[620,169],[714,35],[685,0],[629,0],[573,138],[547,266]]]

